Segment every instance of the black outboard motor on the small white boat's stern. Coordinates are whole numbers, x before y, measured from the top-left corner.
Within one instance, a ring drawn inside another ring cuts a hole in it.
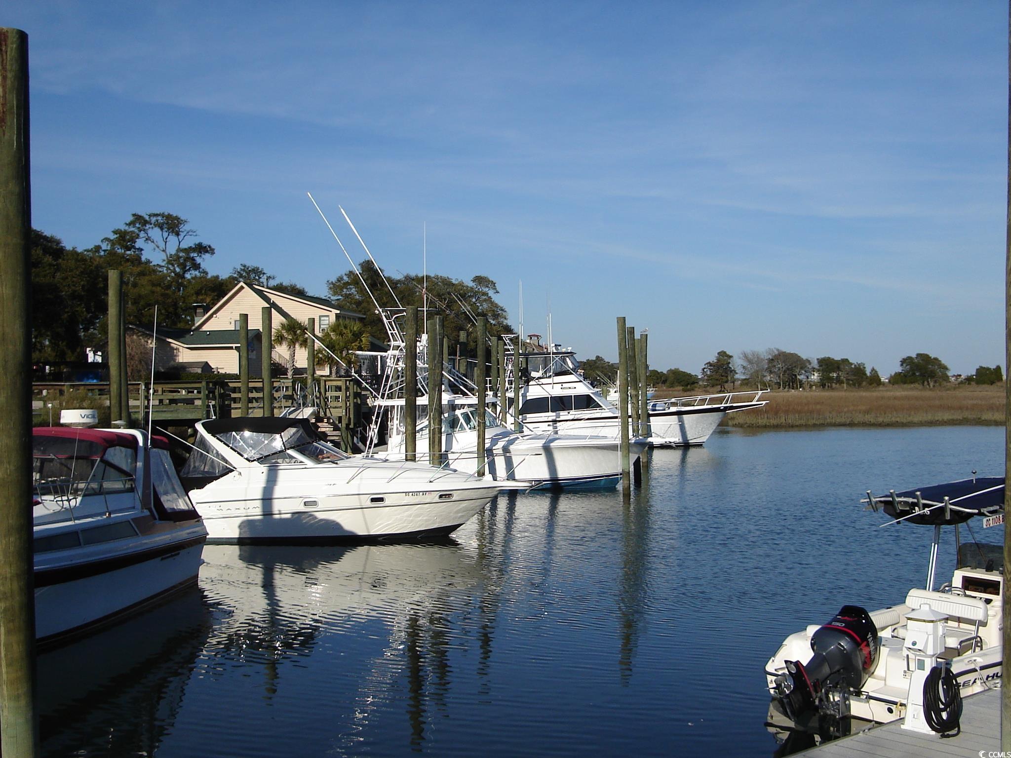
[[[787,661],[775,678],[775,693],[787,716],[800,722],[818,707],[818,695],[842,685],[859,689],[878,664],[878,629],[858,605],[843,605],[835,619],[811,636],[814,655],[806,664]]]

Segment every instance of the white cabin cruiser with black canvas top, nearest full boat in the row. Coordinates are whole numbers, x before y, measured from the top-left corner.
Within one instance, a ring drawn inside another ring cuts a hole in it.
[[[448,535],[515,488],[422,462],[349,456],[304,418],[199,421],[194,448],[180,473],[210,542]]]

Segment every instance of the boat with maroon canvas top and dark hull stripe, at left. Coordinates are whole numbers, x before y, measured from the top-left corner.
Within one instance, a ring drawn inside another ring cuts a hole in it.
[[[32,432],[35,636],[63,639],[196,581],[207,531],[168,444],[136,430]]]

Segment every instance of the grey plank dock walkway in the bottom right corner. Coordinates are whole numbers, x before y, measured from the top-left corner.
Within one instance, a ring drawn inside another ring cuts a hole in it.
[[[902,729],[891,722],[798,755],[817,758],[980,758],[1001,749],[1001,692],[990,689],[962,701],[961,734],[939,739]]]

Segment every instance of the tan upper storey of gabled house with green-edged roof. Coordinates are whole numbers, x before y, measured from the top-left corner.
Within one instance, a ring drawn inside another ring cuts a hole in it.
[[[324,331],[330,324],[338,319],[360,321],[365,316],[351,310],[342,308],[333,300],[311,295],[293,295],[288,292],[261,287],[257,284],[240,282],[231,292],[222,297],[217,303],[212,305],[205,312],[197,311],[196,322],[193,324],[191,334],[206,333],[209,335],[235,333],[238,335],[239,316],[246,313],[249,320],[250,331],[255,328],[259,334],[263,328],[262,310],[264,306],[271,309],[272,326],[278,325],[287,318],[296,318],[302,323],[306,323],[309,318],[315,319],[316,334]],[[212,339],[208,337],[208,339]],[[259,353],[258,353],[259,355]],[[320,351],[316,350],[316,355]],[[196,360],[202,359],[203,356]],[[286,365],[288,362],[288,350],[286,346],[275,345],[272,358],[275,363]],[[257,358],[257,374],[259,373],[259,361]],[[252,372],[254,359],[250,356],[250,368]],[[298,373],[304,373],[306,364],[306,352],[304,348],[295,350],[295,367],[300,369]],[[326,373],[326,371],[321,372]]]

